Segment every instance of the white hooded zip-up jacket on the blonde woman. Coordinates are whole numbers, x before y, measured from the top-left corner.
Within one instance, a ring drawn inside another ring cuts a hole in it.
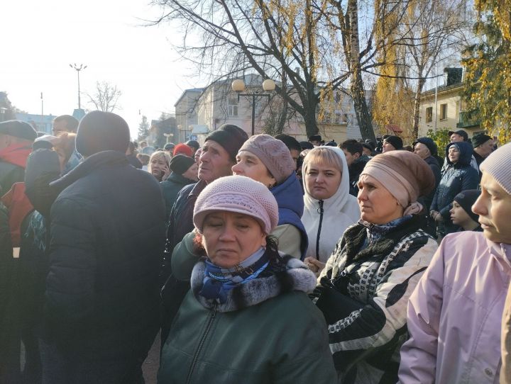
[[[307,256],[316,256],[319,222],[322,222],[322,230],[319,234],[319,260],[322,262],[325,262],[334,251],[335,245],[346,228],[358,222],[361,217],[356,197],[349,194],[349,172],[344,152],[338,147],[325,148],[333,151],[341,159],[341,183],[334,196],[323,201],[323,218],[321,219],[319,201],[310,195],[304,180],[304,214],[302,216],[302,222],[309,237]],[[302,174],[305,179],[304,168],[302,168]]]

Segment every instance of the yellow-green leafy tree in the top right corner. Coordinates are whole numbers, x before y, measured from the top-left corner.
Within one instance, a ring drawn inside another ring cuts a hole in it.
[[[478,42],[464,50],[464,96],[476,118],[501,143],[511,140],[511,0],[476,0]]]

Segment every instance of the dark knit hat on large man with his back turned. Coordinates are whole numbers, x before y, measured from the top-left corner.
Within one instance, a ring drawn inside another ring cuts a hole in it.
[[[76,149],[82,156],[102,151],[126,152],[129,127],[121,116],[111,112],[92,111],[78,125]]]

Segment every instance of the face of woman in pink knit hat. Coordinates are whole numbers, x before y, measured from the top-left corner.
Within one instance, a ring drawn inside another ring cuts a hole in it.
[[[242,213],[209,213],[202,227],[202,246],[213,264],[231,268],[266,245],[257,220]]]

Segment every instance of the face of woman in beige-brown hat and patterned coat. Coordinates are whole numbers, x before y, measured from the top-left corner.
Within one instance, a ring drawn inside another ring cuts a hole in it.
[[[395,197],[373,176],[364,176],[357,185],[362,220],[373,224],[386,224],[402,217],[402,206],[397,204]]]

